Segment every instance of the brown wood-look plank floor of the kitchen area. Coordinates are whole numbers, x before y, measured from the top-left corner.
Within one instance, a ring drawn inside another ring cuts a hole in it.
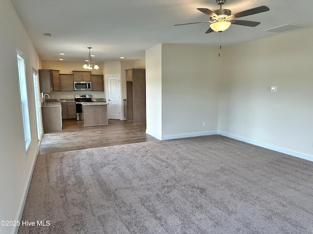
[[[132,121],[109,119],[108,125],[84,127],[83,121],[65,120],[62,130],[44,133],[39,154],[158,140],[145,132],[146,124]]]

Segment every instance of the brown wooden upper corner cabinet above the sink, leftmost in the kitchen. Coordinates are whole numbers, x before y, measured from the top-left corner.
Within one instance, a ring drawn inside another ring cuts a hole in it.
[[[39,70],[39,84],[41,93],[61,91],[60,71],[48,69]]]

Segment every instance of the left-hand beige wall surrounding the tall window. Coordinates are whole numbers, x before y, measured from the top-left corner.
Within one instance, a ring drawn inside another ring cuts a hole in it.
[[[1,0],[0,31],[0,80],[5,84],[0,86],[0,93],[5,97],[0,104],[0,220],[20,220],[38,151],[32,69],[40,68],[40,59],[10,0]],[[24,153],[16,48],[25,56],[31,125],[27,158]],[[0,233],[13,233],[15,228],[0,226]]]

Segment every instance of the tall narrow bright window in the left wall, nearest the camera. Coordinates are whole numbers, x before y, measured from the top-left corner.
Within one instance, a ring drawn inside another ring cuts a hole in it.
[[[30,142],[31,142],[31,133],[30,133],[29,110],[28,110],[25,61],[24,61],[24,55],[18,49],[17,49],[17,59],[18,59],[18,73],[19,73],[19,88],[20,88],[20,99],[21,99],[23,135],[25,139],[25,152],[27,152],[30,146]]]

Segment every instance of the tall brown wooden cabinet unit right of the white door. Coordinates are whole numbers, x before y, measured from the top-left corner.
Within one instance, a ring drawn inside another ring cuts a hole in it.
[[[146,69],[125,70],[127,88],[127,120],[146,123]]]

